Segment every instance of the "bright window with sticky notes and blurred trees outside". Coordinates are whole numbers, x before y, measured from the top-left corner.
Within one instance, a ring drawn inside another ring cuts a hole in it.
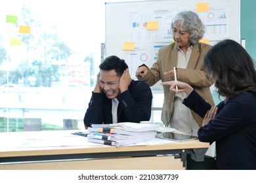
[[[0,3],[0,132],[84,129],[105,2]]]

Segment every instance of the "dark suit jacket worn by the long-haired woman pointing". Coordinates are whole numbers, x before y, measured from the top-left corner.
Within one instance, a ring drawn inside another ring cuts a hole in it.
[[[211,108],[194,91],[183,104],[202,118]],[[216,141],[217,169],[256,169],[256,93],[242,92],[217,107],[215,118],[198,130],[198,139]]]

